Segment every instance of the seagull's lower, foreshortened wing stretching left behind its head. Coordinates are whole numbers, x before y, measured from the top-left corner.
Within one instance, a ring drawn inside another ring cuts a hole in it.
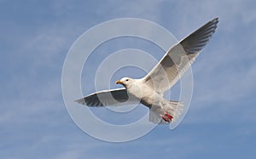
[[[138,103],[139,99],[128,94],[125,88],[103,90],[90,94],[83,99],[75,100],[79,104],[87,106],[107,106],[107,105],[129,105]]]

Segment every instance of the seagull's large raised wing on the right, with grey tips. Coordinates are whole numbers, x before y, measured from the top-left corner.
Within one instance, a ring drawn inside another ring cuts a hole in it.
[[[197,31],[170,48],[152,71],[143,78],[144,82],[163,94],[188,70],[202,48],[204,48],[218,24],[218,18],[209,21]]]

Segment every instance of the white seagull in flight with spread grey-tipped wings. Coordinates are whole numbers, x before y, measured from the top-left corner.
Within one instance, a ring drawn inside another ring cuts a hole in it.
[[[218,18],[170,48],[157,65],[141,79],[123,77],[116,81],[125,88],[103,90],[76,102],[87,106],[129,105],[140,102],[149,108],[149,122],[166,124],[177,119],[183,102],[164,99],[163,94],[183,76],[215,32]]]

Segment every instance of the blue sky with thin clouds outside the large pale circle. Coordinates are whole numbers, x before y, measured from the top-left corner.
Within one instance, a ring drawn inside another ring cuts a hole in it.
[[[253,0],[1,0],[1,158],[254,158],[255,6]],[[91,138],[72,121],[61,70],[84,31],[125,17],[152,20],[177,39],[214,17],[220,22],[192,66],[194,94],[183,123],[114,144]]]

